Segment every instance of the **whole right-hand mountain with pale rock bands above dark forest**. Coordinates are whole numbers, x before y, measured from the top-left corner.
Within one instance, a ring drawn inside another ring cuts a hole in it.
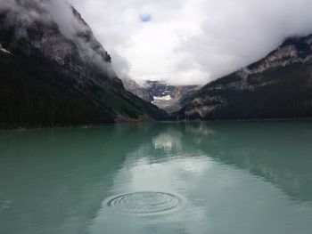
[[[193,95],[178,119],[312,117],[312,35],[291,37]]]

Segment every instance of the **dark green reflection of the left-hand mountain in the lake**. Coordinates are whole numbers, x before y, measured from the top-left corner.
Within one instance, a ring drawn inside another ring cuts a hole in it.
[[[0,233],[85,233],[141,143],[131,126],[1,132]]]

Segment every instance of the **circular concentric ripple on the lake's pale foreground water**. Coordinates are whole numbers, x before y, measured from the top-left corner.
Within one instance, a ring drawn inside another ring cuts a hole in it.
[[[135,214],[153,214],[176,208],[181,199],[164,192],[135,192],[119,195],[108,202],[108,206]]]

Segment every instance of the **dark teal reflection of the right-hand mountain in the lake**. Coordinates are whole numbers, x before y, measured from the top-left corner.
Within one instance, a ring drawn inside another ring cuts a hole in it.
[[[261,176],[293,199],[312,200],[311,122],[197,123],[185,132],[185,141],[197,133],[196,148],[213,159]]]

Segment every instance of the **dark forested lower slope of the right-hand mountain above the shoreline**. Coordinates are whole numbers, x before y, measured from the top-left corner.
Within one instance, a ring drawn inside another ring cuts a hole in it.
[[[252,92],[229,92],[225,109],[211,113],[211,118],[300,118],[312,117],[312,64],[293,65],[267,71],[266,79],[281,79],[273,85]],[[252,83],[250,78],[250,83]],[[231,96],[232,95],[232,96]]]

